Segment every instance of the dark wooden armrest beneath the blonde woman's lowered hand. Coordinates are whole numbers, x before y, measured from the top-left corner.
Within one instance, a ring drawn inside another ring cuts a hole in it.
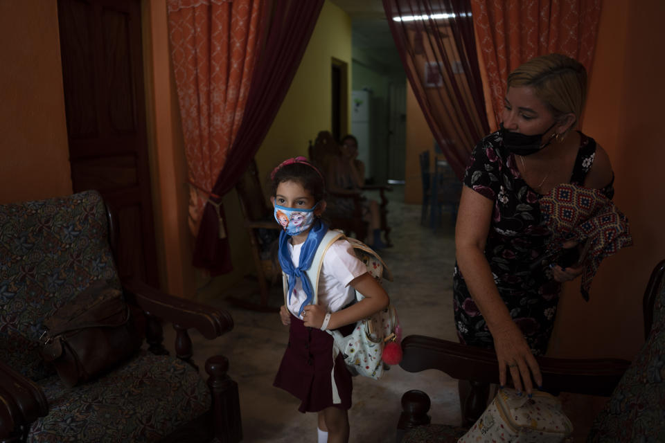
[[[452,341],[411,335],[402,341],[400,366],[408,372],[438,369],[454,379],[499,383],[499,366],[493,350]],[[609,397],[630,361],[622,359],[553,359],[537,356],[542,386],[554,392],[574,392]]]

